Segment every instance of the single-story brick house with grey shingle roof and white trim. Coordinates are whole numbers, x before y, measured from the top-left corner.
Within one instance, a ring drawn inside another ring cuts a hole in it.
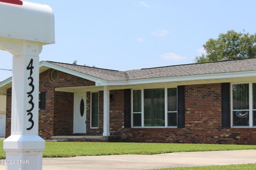
[[[44,139],[256,144],[256,58],[131,71],[39,66]],[[11,78],[0,91],[8,137]]]

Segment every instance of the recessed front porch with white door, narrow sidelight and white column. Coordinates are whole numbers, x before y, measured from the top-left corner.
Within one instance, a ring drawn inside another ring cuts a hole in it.
[[[54,100],[54,105],[57,107],[54,106],[54,122],[56,123],[51,139],[108,141],[111,100],[109,91],[108,86],[55,88],[54,98],[57,100]],[[65,116],[66,118],[63,118]]]

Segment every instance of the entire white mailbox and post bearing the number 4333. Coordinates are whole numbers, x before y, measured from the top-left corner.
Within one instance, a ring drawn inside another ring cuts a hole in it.
[[[0,0],[0,49],[13,55],[11,136],[4,140],[6,169],[42,169],[45,141],[38,136],[39,54],[54,43],[51,7]]]

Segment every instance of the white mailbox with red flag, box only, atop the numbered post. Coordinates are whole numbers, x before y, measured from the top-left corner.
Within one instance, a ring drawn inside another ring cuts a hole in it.
[[[52,8],[18,0],[0,0],[0,37],[53,44]]]

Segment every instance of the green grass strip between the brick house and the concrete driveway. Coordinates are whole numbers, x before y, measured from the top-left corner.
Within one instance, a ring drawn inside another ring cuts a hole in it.
[[[5,157],[0,140],[0,159]],[[163,154],[170,152],[256,149],[256,145],[209,145],[178,143],[46,142],[44,157],[87,155]]]

